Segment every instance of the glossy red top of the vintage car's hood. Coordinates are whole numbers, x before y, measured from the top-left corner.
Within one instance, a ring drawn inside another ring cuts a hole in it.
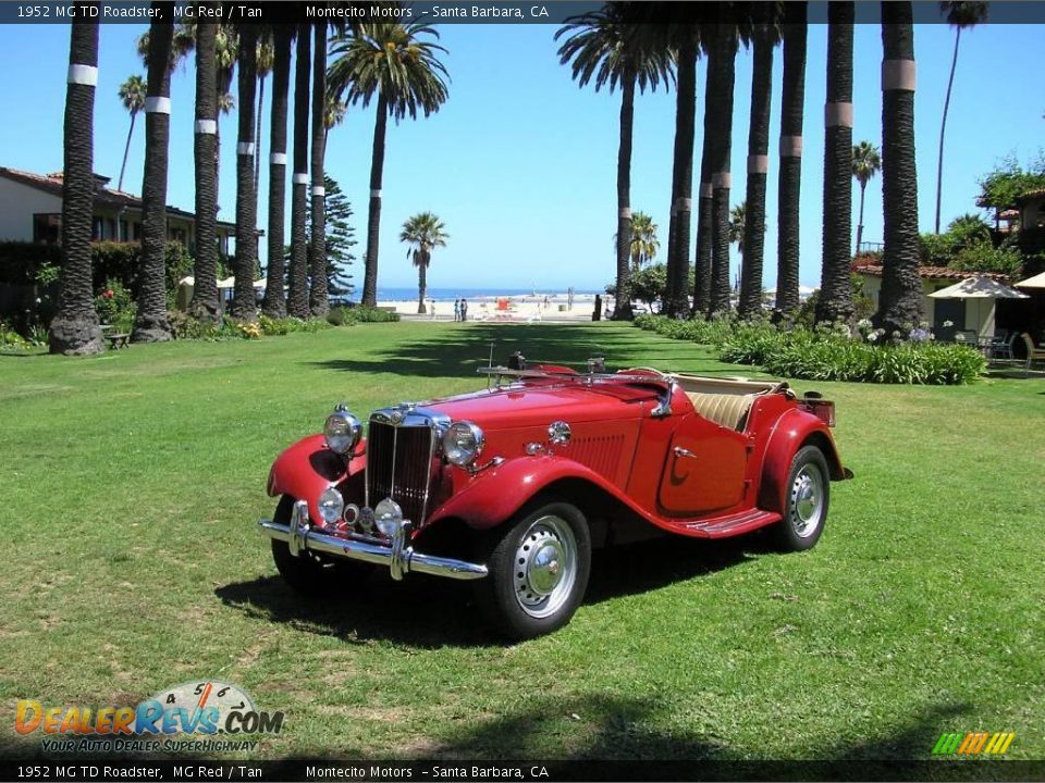
[[[517,384],[422,402],[454,421],[467,419],[484,428],[638,419],[643,400],[654,399],[653,386],[619,383]]]

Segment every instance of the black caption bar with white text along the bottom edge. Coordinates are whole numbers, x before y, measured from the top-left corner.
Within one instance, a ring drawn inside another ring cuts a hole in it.
[[[1045,761],[0,761],[5,781],[1045,781]]]

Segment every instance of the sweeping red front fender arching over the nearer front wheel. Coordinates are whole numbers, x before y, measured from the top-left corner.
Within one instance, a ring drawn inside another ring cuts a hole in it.
[[[491,478],[496,481],[488,481]],[[518,457],[482,471],[440,506],[429,519],[429,523],[455,517],[475,530],[493,527],[511,518],[541,489],[563,478],[582,478],[628,506],[643,519],[666,526],[650,517],[599,473],[579,462],[554,455]]]

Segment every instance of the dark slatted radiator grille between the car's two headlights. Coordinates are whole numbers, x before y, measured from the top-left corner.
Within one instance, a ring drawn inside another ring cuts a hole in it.
[[[370,420],[367,496],[371,508],[391,497],[415,526],[425,521],[432,473],[432,428],[393,426]]]

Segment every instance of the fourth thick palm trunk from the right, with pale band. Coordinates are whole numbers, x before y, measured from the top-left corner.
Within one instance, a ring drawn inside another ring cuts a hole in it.
[[[769,8],[754,29],[751,65],[751,125],[748,132],[747,211],[743,223],[743,257],[740,266],[741,318],[762,312],[762,263],[765,254],[765,184],[769,172],[770,110],[773,96],[773,36]]]

